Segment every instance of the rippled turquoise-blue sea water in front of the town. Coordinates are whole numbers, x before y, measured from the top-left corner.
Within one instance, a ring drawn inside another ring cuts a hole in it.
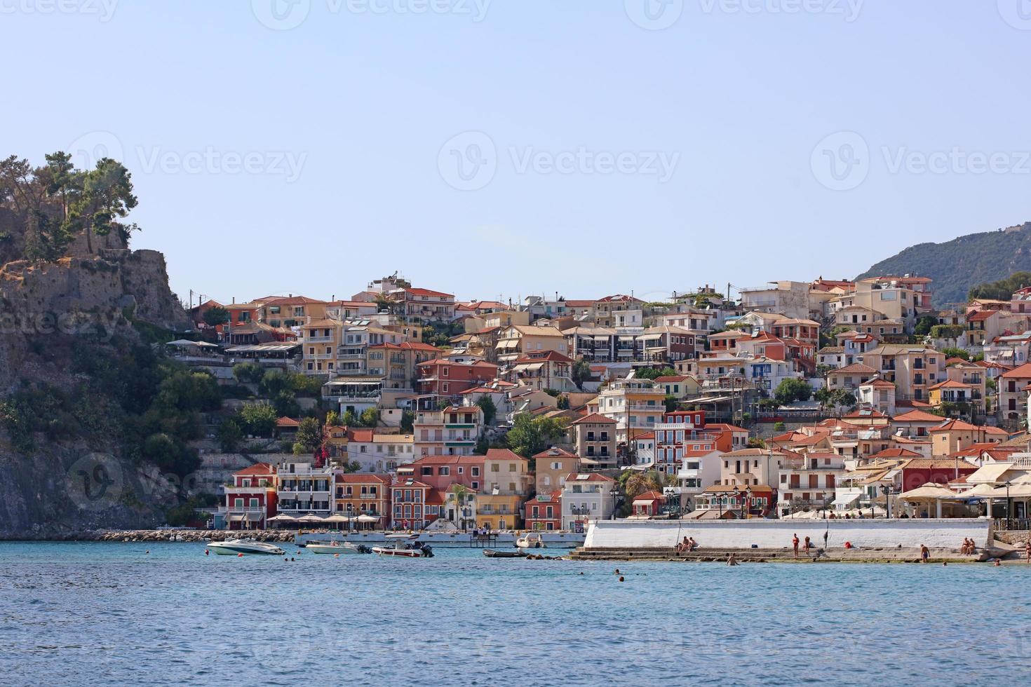
[[[0,543],[0,683],[1000,685],[1031,676],[1031,566],[297,551],[285,562],[205,556],[193,544]]]

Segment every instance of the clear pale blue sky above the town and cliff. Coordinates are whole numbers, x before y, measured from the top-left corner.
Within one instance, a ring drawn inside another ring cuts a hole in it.
[[[684,0],[661,30],[645,0],[56,1],[0,0],[5,154],[121,149],[134,245],[184,298],[340,298],[395,270],[459,298],[852,277],[1031,219],[1019,0]],[[842,131],[860,147],[819,148]],[[464,132],[488,138],[445,147]],[[644,173],[657,152],[671,175]],[[488,163],[474,190],[455,154]]]

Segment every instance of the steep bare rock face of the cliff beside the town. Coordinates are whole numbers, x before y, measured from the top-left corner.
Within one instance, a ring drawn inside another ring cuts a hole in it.
[[[149,527],[174,503],[174,485],[153,465],[127,456],[117,432],[103,430],[110,402],[81,391],[96,380],[75,358],[86,348],[113,357],[115,342],[142,346],[148,328],[181,331],[186,312],[169,289],[164,255],[129,250],[111,237],[99,243],[96,254],[76,240],[56,263],[0,267],[0,400],[46,389],[69,394],[64,406],[95,403],[70,413],[52,404],[48,422],[57,426],[34,433],[29,449],[14,431],[19,422],[37,423],[25,413],[48,408],[45,399],[0,425],[0,538]]]

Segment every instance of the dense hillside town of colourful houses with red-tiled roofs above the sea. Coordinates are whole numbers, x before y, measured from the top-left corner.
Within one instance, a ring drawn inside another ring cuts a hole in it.
[[[1028,528],[1031,286],[946,309],[908,274],[735,290],[459,301],[395,274],[348,300],[190,303],[167,348],[237,400],[201,455],[209,524]]]

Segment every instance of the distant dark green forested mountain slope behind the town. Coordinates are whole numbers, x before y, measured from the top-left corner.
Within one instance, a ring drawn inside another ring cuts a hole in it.
[[[1031,271],[1031,221],[968,234],[945,243],[919,243],[880,261],[857,277],[914,274],[931,277],[933,302],[942,308],[966,301],[971,286]]]

